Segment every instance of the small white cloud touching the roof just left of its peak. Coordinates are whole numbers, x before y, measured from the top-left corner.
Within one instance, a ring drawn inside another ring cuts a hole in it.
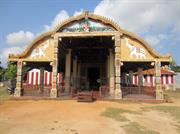
[[[57,26],[59,23],[69,18],[69,14],[65,10],[61,10],[53,19],[50,25],[44,25],[44,30],[48,31]]]

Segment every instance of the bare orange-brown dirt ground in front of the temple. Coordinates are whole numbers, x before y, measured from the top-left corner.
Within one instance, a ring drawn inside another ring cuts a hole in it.
[[[125,134],[124,122],[101,113],[109,107],[140,111],[142,107],[154,105],[180,106],[180,103],[6,101],[0,104],[0,134]],[[124,116],[160,134],[178,134],[177,121],[167,113],[151,110],[142,114],[124,113]]]

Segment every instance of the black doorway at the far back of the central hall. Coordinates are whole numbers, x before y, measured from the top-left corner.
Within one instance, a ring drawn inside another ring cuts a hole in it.
[[[93,90],[98,90],[100,82],[98,79],[100,78],[100,68],[98,67],[90,67],[88,68],[88,80],[89,80],[89,88]]]

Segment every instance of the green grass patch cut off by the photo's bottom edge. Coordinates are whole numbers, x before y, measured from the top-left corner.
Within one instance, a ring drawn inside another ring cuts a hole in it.
[[[159,134],[159,132],[149,130],[146,127],[139,125],[137,122],[130,122],[122,127],[128,134]]]

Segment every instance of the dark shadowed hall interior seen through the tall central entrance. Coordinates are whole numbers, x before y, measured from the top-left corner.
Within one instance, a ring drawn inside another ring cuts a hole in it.
[[[62,37],[59,45],[58,71],[64,72],[65,79],[66,54],[71,49],[71,73],[74,71],[73,60],[77,59],[77,64],[80,64],[77,90],[98,91],[102,83],[98,83],[97,79],[103,79],[103,82],[106,83],[105,65],[109,51],[114,49],[113,44],[114,39],[111,35]]]

